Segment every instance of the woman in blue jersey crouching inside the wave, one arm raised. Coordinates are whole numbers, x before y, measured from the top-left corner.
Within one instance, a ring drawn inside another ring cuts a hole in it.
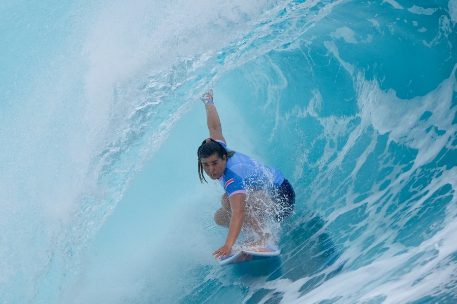
[[[263,231],[264,218],[273,215],[282,221],[295,206],[295,192],[276,168],[227,148],[222,136],[219,115],[213,101],[213,90],[202,96],[210,137],[198,148],[200,181],[207,182],[203,172],[218,180],[225,193],[222,207],[214,214],[215,222],[228,227],[225,244],[213,252],[215,258],[228,256],[237,241],[243,224],[258,236],[252,245],[265,245],[270,235]],[[246,212],[248,209],[252,212]]]

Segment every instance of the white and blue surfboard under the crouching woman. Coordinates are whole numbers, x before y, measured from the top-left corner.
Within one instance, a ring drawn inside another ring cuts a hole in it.
[[[231,265],[242,262],[256,261],[272,258],[281,254],[281,249],[277,246],[255,247],[232,251],[232,253],[219,260],[219,265]]]

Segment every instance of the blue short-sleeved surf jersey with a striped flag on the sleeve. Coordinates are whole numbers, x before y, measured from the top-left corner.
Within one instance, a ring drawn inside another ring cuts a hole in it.
[[[227,151],[226,144],[217,140]],[[266,166],[247,155],[236,152],[227,159],[225,171],[219,182],[228,197],[237,193],[246,193],[248,189],[272,189],[279,187],[284,175],[276,168]]]

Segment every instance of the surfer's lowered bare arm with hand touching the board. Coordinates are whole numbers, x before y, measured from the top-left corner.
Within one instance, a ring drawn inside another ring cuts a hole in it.
[[[243,193],[237,193],[228,200],[230,201],[230,208],[232,209],[232,219],[230,220],[230,226],[228,227],[228,235],[225,244],[213,252],[213,255],[216,255],[216,258],[228,256],[232,252],[232,247],[237,241],[238,236],[241,233],[241,227],[243,226],[246,196]]]

